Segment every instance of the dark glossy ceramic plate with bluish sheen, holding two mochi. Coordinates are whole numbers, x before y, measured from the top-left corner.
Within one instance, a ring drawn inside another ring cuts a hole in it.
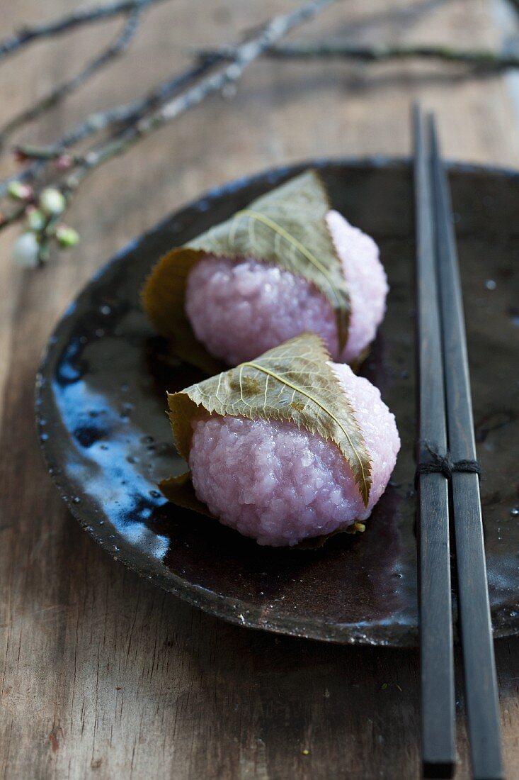
[[[183,464],[171,446],[165,390],[197,381],[171,366],[139,306],[165,250],[316,165],[334,207],[380,244],[391,292],[363,373],[397,417],[402,449],[365,534],[316,551],[259,547],[169,505],[156,483]],[[519,175],[453,166],[478,456],[497,636],[519,633]],[[413,226],[407,161],[313,161],[211,191],[126,246],[66,311],[37,378],[49,470],[79,523],[113,558],[208,612],[243,626],[337,642],[417,640]]]

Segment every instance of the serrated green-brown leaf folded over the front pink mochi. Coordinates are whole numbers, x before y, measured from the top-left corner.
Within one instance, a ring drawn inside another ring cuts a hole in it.
[[[256,360],[168,394],[178,452],[188,459],[192,420],[200,407],[223,417],[287,420],[337,445],[367,505],[371,488],[369,454],[354,410],[329,360],[319,336],[305,333]]]

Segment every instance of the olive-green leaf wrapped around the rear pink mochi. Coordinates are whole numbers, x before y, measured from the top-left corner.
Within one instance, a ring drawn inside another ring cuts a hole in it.
[[[205,371],[222,364],[197,342],[185,315],[189,272],[208,254],[216,257],[253,257],[302,276],[330,301],[337,319],[340,349],[348,340],[350,300],[342,265],[328,231],[327,191],[312,170],[252,201],[193,239],[171,250],[157,263],[143,289],[143,305],[150,320],[172,340],[182,360]]]

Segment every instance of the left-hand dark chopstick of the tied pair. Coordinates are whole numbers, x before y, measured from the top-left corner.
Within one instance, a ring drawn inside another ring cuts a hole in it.
[[[418,325],[417,462],[429,448],[447,452],[440,307],[436,289],[429,133],[414,108],[416,303]],[[422,764],[428,777],[450,777],[456,759],[454,651],[450,594],[449,494],[443,473],[418,474]]]

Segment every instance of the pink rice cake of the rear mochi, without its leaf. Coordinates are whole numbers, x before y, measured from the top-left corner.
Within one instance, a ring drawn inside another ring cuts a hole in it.
[[[338,211],[329,211],[326,219],[350,292],[348,342],[341,355],[334,311],[314,285],[252,257],[208,255],[189,274],[185,312],[196,338],[212,355],[235,366],[312,331],[334,360],[348,363],[372,342],[388,291],[378,247]]]

